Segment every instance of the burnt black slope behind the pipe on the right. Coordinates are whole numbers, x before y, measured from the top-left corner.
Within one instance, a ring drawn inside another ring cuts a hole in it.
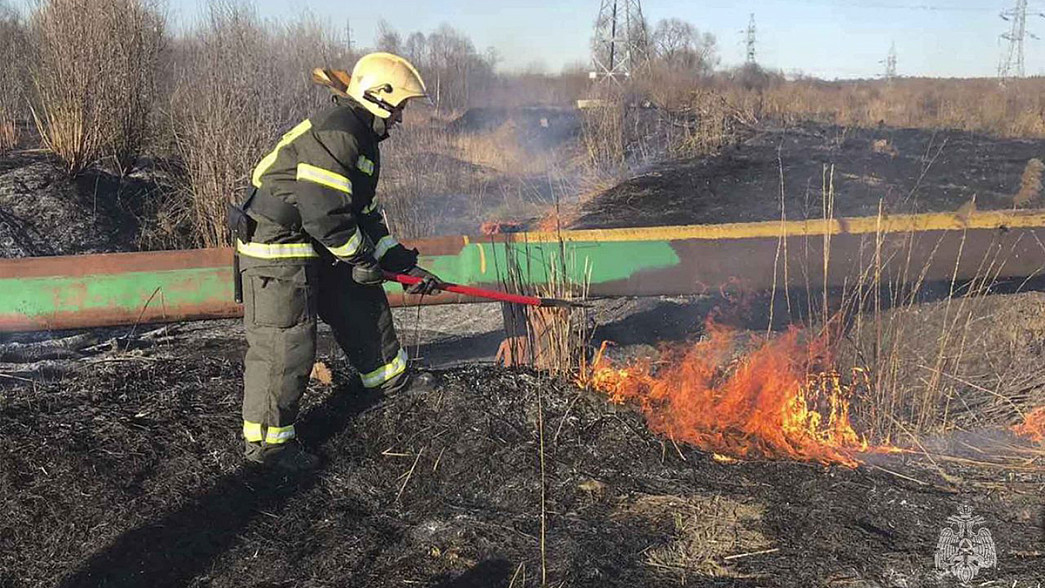
[[[884,146],[875,148],[877,141]],[[711,158],[653,164],[586,203],[576,229],[822,218],[825,173],[834,166],[834,215],[1013,207],[1020,177],[1045,140],[960,131],[850,128],[821,124],[766,130]],[[1039,203],[1040,204],[1040,203]]]

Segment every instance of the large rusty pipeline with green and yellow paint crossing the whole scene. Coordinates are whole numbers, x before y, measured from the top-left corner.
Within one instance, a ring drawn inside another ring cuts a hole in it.
[[[440,277],[500,288],[563,278],[591,297],[1022,281],[1045,269],[1045,213],[974,212],[561,233],[410,243]],[[230,250],[0,260],[0,332],[238,316]],[[511,275],[511,277],[510,277]],[[418,300],[386,286],[393,305]]]

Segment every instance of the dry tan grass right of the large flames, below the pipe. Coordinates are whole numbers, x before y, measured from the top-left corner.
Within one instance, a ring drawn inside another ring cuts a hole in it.
[[[834,189],[827,171],[822,198],[823,217],[831,219]],[[882,205],[879,210],[883,219]],[[857,397],[857,424],[873,443],[916,444],[956,427],[997,426],[1037,405],[1026,374],[1034,374],[1030,382],[1042,379],[1040,370],[1027,367],[1038,362],[1039,346],[1030,342],[1040,339],[1045,323],[1027,305],[1040,302],[993,292],[1013,252],[1001,245],[959,250],[962,264],[976,264],[975,276],[957,280],[955,265],[950,280],[929,283],[930,263],[914,266],[911,252],[943,257],[943,239],[920,232],[889,240],[883,232],[869,234],[857,255],[859,275],[842,291],[807,285],[817,292],[804,310],[810,330],[830,339],[839,372],[853,374],[844,385]],[[822,257],[818,245],[815,251],[807,263],[822,262],[827,275],[837,263],[830,239]]]

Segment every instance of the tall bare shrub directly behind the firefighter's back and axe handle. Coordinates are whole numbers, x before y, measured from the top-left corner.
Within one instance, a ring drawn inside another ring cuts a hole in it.
[[[228,242],[226,203],[242,199],[279,133],[327,99],[311,69],[351,58],[315,18],[266,27],[249,5],[219,0],[179,52],[171,119],[183,187],[172,214],[192,227],[196,244],[218,246]]]

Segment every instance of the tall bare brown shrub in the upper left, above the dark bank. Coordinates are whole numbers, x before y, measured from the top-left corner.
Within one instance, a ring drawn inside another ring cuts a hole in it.
[[[75,174],[103,156],[129,171],[148,137],[163,18],[147,0],[44,0],[32,18],[32,114]]]

